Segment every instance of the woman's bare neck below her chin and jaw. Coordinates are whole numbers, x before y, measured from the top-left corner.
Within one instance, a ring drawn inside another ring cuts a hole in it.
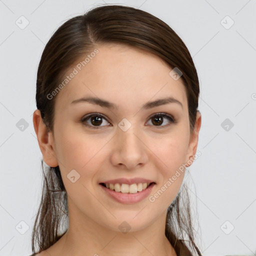
[[[71,210],[67,232],[47,251],[56,256],[176,256],[164,233],[165,218],[166,213],[140,230],[124,233]]]

